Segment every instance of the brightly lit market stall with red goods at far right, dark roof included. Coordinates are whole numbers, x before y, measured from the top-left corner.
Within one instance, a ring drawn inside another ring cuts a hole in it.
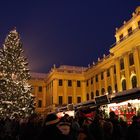
[[[118,117],[123,117],[128,124],[132,117],[140,112],[140,88],[117,93],[108,104],[108,112],[114,111]]]

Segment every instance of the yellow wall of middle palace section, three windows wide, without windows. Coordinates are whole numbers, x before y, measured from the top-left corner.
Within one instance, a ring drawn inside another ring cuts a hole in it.
[[[59,79],[63,81],[63,85],[59,86]],[[68,80],[72,81],[72,86],[68,86]],[[81,81],[81,87],[77,87],[77,80]],[[58,72],[57,69],[53,69],[53,71],[48,76],[47,85],[50,82],[53,82],[52,90],[48,90],[48,94],[53,96],[53,101],[51,103],[58,104],[58,97],[63,96],[63,104],[68,103],[68,96],[72,96],[73,103],[77,103],[77,97],[83,97],[83,82],[84,76],[83,74],[75,74],[65,72]],[[84,100],[84,99],[82,99]]]

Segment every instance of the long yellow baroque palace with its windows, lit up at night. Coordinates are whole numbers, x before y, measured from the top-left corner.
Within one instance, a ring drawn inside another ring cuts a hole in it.
[[[32,73],[36,111],[43,113],[55,106],[140,87],[140,7],[116,28],[115,38],[109,55],[87,68],[54,65],[47,74]]]

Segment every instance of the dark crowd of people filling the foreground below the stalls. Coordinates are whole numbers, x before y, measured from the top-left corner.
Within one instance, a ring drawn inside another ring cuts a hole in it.
[[[140,140],[140,116],[133,116],[128,125],[112,111],[105,118],[96,111],[92,118],[79,111],[75,117],[55,113],[46,117],[0,119],[0,140]]]

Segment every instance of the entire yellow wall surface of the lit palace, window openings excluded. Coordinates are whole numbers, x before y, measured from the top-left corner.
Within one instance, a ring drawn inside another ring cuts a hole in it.
[[[123,79],[126,79],[126,89],[131,89],[131,79],[134,75],[137,77],[137,87],[140,87],[140,28],[138,27],[140,14],[138,11],[140,11],[140,8],[137,8],[129,21],[117,29],[116,43],[110,48],[110,54],[98,60],[94,65],[80,72],[71,70],[72,66],[66,66],[63,69],[61,69],[61,66],[59,68],[54,67],[46,78],[30,81],[35,87],[36,100],[43,101],[40,110],[45,110],[46,106],[52,109],[53,104],[58,105],[59,96],[63,96],[63,104],[68,103],[68,96],[72,96],[72,102],[76,104],[77,97],[81,97],[82,102],[87,101],[87,93],[89,99],[91,99],[91,92],[96,97],[97,90],[99,96],[101,96],[101,89],[104,88],[104,94],[106,94],[109,86],[112,88],[111,94],[115,94],[115,92],[122,91]],[[128,36],[130,27],[132,27],[132,34]],[[122,33],[125,38],[120,41],[119,36]],[[134,56],[134,65],[132,66],[129,65],[130,53],[133,53]],[[124,60],[125,68],[123,70],[120,70],[120,59]],[[114,73],[114,68],[116,68],[116,73]],[[110,76],[107,76],[108,69],[110,70]],[[101,73],[103,73],[104,79],[101,79]],[[95,79],[96,75],[98,75],[98,82]],[[91,84],[91,78],[93,78],[93,84]],[[58,85],[59,79],[62,79],[63,86]],[[68,80],[72,80],[72,87],[68,87]],[[77,87],[77,80],[81,81],[81,87]],[[115,85],[117,85],[118,91],[115,91]],[[38,93],[38,86],[43,86],[42,93]],[[37,108],[37,111],[39,111],[39,108]]]

